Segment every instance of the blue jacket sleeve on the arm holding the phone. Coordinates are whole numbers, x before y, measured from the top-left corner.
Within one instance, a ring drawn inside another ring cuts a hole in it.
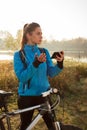
[[[56,65],[53,64],[48,50],[45,49],[45,51],[46,51],[46,58],[47,58],[47,74],[50,77],[54,77],[57,74],[59,74],[62,71],[62,69],[58,66],[58,64]]]

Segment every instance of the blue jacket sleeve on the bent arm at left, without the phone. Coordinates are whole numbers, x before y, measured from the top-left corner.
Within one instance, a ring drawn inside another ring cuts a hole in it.
[[[27,82],[33,74],[37,71],[33,63],[30,63],[26,69],[20,59],[19,52],[14,53],[14,71],[19,81],[25,83]]]

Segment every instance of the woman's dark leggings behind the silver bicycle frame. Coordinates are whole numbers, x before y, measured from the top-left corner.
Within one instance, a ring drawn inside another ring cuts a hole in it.
[[[19,109],[28,108],[28,107],[39,105],[42,103],[44,103],[44,99],[41,96],[20,96],[18,98]],[[32,121],[33,113],[34,113],[34,110],[20,114],[20,117],[21,117],[20,130],[25,130],[28,127],[28,125]],[[48,112],[46,112],[46,114],[44,114],[43,119],[44,119],[48,129],[54,130],[52,119],[50,118]]]

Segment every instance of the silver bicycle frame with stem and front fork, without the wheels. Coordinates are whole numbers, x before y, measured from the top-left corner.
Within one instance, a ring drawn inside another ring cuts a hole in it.
[[[20,113],[23,113],[23,112],[31,111],[31,110],[34,110],[34,109],[39,109],[40,110],[39,113],[36,115],[36,117],[32,120],[31,124],[29,124],[29,126],[26,129],[26,130],[31,130],[47,111],[50,113],[50,115],[52,115],[51,105],[50,105],[48,98],[47,98],[51,91],[52,90],[49,90],[48,92],[45,92],[45,93],[42,94],[43,98],[45,100],[44,104],[25,108],[25,109],[22,109],[22,110],[17,110],[17,111],[14,111],[14,112],[7,112],[6,114],[4,114],[4,117],[6,117],[6,119],[7,119],[8,130],[11,130],[11,124],[10,124],[10,117],[11,116],[14,116],[14,115],[17,115],[17,114],[20,114]],[[54,122],[55,130],[60,130],[58,128],[58,124],[56,123],[57,122],[56,117],[55,118],[52,117],[52,118],[53,118],[52,120]]]

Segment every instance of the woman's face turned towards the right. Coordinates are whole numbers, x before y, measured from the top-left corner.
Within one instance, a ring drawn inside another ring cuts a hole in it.
[[[42,31],[40,27],[37,27],[31,34],[27,34],[27,40],[29,43],[40,44],[42,42]]]

